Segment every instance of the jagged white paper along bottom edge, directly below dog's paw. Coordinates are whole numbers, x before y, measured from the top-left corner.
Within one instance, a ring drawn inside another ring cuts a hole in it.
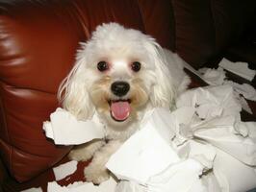
[[[61,186],[56,181],[48,182],[47,192],[115,192],[116,181],[113,178],[94,185],[92,182],[78,181],[67,186]]]

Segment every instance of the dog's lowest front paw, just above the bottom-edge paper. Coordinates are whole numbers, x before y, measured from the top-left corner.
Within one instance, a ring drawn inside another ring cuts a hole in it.
[[[101,182],[109,180],[110,178],[110,173],[106,168],[100,169],[99,167],[90,165],[85,168],[84,174],[86,180],[91,181],[94,184],[100,184]]]

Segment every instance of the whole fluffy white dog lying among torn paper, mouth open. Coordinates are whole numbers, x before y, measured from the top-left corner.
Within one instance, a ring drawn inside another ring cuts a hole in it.
[[[82,44],[59,97],[78,119],[97,118],[105,126],[105,139],[77,146],[69,154],[76,160],[93,156],[85,169],[87,180],[109,178],[106,162],[140,128],[146,110],[174,107],[190,83],[183,63],[151,36],[116,23],[98,26]]]

